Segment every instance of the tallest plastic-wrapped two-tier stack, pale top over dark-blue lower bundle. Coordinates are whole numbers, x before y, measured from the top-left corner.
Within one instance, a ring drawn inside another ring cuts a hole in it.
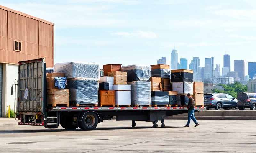
[[[68,79],[69,102],[71,105],[98,104],[98,84],[100,68],[96,63],[57,63],[54,72],[64,73]]]

